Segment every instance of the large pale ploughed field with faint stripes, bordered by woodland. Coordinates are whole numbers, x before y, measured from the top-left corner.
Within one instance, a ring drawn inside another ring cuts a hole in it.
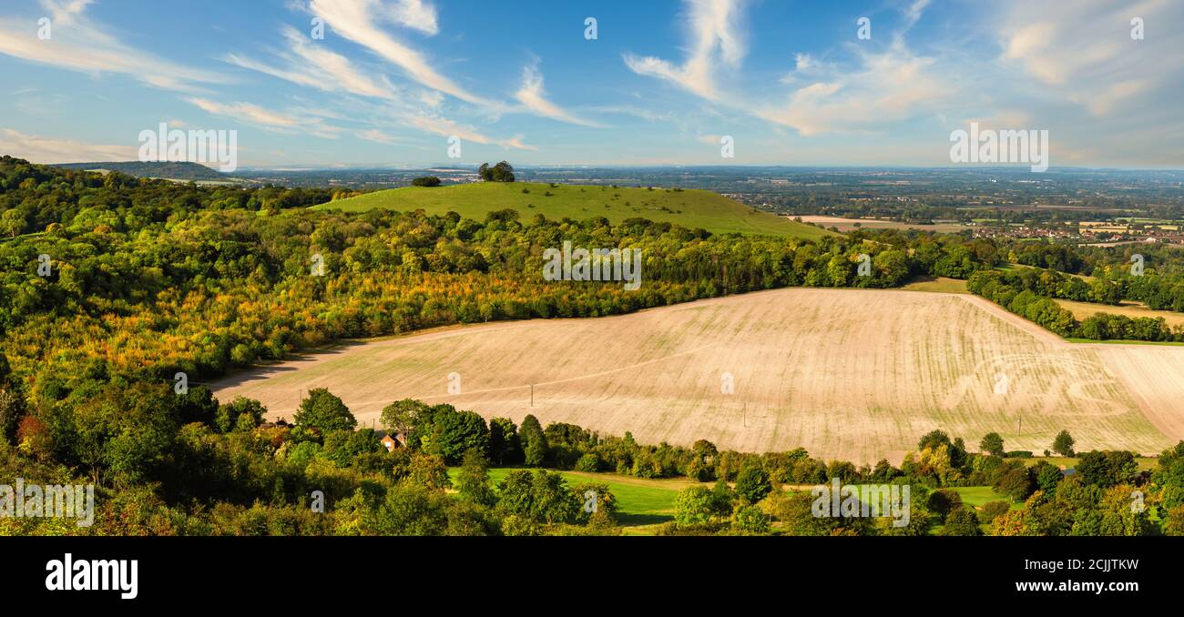
[[[420,398],[643,443],[800,446],[857,463],[899,463],[935,428],[971,449],[997,431],[1008,449],[1037,454],[1061,429],[1079,450],[1154,454],[1184,439],[1184,348],[1070,344],[980,298],[910,291],[789,288],[442,330],[343,345],[214,390],[290,418],[318,387],[362,426]]]

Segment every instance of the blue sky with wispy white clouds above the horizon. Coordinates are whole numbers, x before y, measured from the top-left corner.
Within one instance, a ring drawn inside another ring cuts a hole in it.
[[[0,84],[0,152],[39,162],[168,122],[240,165],[947,165],[977,122],[1184,168],[1178,0],[6,0]]]

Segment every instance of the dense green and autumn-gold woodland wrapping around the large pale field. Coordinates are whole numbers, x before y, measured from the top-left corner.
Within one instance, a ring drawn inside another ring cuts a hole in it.
[[[1157,487],[1152,501],[1163,508],[1152,512],[1160,515],[1154,525],[1139,519],[1124,530],[1159,533],[1184,520],[1171,509],[1179,506],[1179,491],[1170,488],[1184,478],[1184,452],[1165,453],[1166,480],[1158,483],[1126,473],[1122,463],[1112,482],[1079,487],[1073,482],[1083,480],[1067,480],[1074,486],[1068,491],[1040,483],[1040,470],[1024,475],[1031,480],[1024,485],[1019,476],[1029,472],[1021,474],[1014,461],[970,455],[944,436],[922,440],[901,469],[887,462],[858,469],[803,450],[755,455],[714,452],[707,442],[646,446],[628,435],[542,428],[536,421],[487,423],[448,405],[400,402],[384,417],[388,428],[410,434],[410,447],[387,453],[377,434],[356,430],[340,400],[315,390],[295,428],[266,426],[257,402],[215,401],[200,383],[342,338],[605,316],[794,285],[893,287],[918,275],[972,278],[1006,258],[991,241],[916,233],[860,232],[812,242],[721,236],[642,219],[612,226],[542,215],[523,221],[513,210],[474,221],[305,208],[333,197],[322,189],[205,188],[0,158],[0,478],[94,482],[99,491],[95,527],[6,518],[0,532],[616,532],[612,496],[603,487],[570,487],[556,474],[529,469],[491,487],[491,463],[723,481],[707,494],[688,494],[680,506],[686,515],[669,533],[766,533],[773,521],[779,533],[875,533],[843,527],[842,520],[837,527],[793,522],[802,512],[798,498],[766,491],[829,478],[918,482],[937,492],[1008,476],[1005,486],[1024,487],[1009,494],[1029,504],[1016,512],[1055,511],[1048,514],[1053,522],[1003,514],[1011,522],[1000,533],[1113,530],[1109,519],[1075,527],[1056,517],[1083,500],[1103,504],[1111,493],[1145,485]],[[641,249],[641,290],[545,280],[542,253],[564,241]],[[868,275],[858,273],[862,255],[870,258]],[[193,384],[184,394],[174,390],[179,371]],[[462,466],[455,492],[449,465]],[[590,489],[605,504],[591,517],[579,507]],[[309,507],[313,491],[324,493],[328,515]],[[942,508],[957,509],[967,533],[979,530],[972,511],[941,506],[950,495],[934,499],[931,517],[933,500],[914,498],[920,509],[910,533],[927,532],[934,517],[944,521]]]

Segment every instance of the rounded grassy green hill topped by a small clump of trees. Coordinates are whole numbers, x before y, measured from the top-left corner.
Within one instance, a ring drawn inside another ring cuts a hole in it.
[[[526,191],[523,191],[526,190]],[[548,195],[549,194],[549,195]],[[407,187],[380,190],[358,197],[337,200],[314,208],[365,212],[373,208],[411,212],[423,208],[429,214],[453,210],[469,219],[483,220],[485,214],[511,208],[522,219],[542,214],[558,220],[604,216],[613,223],[642,217],[683,227],[699,227],[712,233],[781,235],[815,240],[831,232],[811,227],[774,214],[760,212],[707,190],[655,188],[581,187],[572,184],[527,182],[481,182],[449,187]]]

